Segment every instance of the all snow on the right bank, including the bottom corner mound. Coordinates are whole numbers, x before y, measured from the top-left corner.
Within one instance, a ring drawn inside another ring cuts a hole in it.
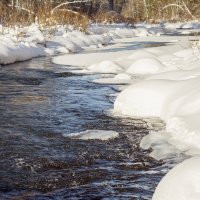
[[[101,84],[125,84],[119,87],[121,92],[114,102],[113,114],[161,118],[166,128],[151,132],[141,141],[141,148],[152,148],[151,156],[155,159],[178,153],[199,156],[200,51],[198,44],[193,44],[198,38],[171,35],[177,31],[174,27],[180,28],[183,35],[195,32],[182,29],[199,28],[199,23],[165,24],[162,29],[161,26],[137,26],[138,30],[142,29],[140,37],[115,39],[112,47],[102,47],[95,53],[58,56],[53,62],[78,66],[83,73],[101,73],[102,78],[94,80]],[[153,30],[153,34],[150,30]],[[160,36],[161,31],[168,32],[169,36]],[[145,34],[142,35],[142,32]],[[134,44],[137,46],[138,42],[168,44],[135,50]],[[199,160],[200,157],[185,161],[169,172],[159,184],[153,199],[200,199],[199,178],[196,175],[195,180],[193,175],[184,177],[184,173],[194,168],[196,171],[193,174],[200,173],[195,167]],[[185,170],[179,170],[184,167]],[[171,183],[173,186],[169,187]],[[176,188],[176,185],[179,185],[179,190],[170,189]]]

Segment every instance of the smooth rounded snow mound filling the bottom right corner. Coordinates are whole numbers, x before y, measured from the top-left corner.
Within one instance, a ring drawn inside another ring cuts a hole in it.
[[[199,200],[199,169],[199,157],[180,163],[161,180],[152,200]]]

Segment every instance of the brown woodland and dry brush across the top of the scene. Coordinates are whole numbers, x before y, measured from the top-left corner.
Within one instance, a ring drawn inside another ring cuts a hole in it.
[[[0,23],[4,26],[71,24],[88,26],[138,21],[198,20],[199,0],[1,0]]]

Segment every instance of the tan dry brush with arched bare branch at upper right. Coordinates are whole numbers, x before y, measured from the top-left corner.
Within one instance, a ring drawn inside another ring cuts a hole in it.
[[[183,2],[191,14],[189,14]],[[200,1],[197,0],[127,0],[121,14],[125,17],[134,18],[135,21],[188,21],[200,18],[199,7]]]

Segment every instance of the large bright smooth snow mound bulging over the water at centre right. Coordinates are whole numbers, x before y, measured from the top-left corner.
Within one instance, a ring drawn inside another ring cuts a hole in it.
[[[173,86],[168,80],[144,80],[133,84],[118,95],[114,112],[132,117],[161,117]]]

